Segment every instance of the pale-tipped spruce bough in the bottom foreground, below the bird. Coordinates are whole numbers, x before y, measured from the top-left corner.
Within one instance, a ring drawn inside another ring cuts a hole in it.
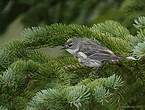
[[[115,80],[112,80],[112,78]],[[42,108],[55,110],[62,108],[67,110],[69,108],[70,110],[79,110],[81,108],[89,109],[92,103],[108,104],[107,99],[112,95],[112,92],[106,88],[106,86],[109,87],[110,85],[106,81],[109,81],[113,85],[116,85],[114,82],[117,85],[119,84],[117,87],[111,85],[109,89],[119,89],[122,86],[120,77],[113,75],[107,79],[98,79],[90,82],[86,86],[79,84],[72,87],[42,90],[32,98],[27,110],[31,110],[31,107],[36,110]],[[92,83],[94,84],[93,86]],[[91,103],[91,100],[94,100],[94,102]]]

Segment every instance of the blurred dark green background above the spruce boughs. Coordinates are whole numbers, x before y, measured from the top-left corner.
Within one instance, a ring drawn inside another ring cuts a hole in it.
[[[0,46],[20,39],[26,27],[53,23],[116,20],[133,33],[133,19],[144,12],[145,0],[0,0]]]

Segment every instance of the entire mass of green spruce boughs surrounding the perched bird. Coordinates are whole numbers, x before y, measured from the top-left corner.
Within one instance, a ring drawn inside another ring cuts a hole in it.
[[[137,35],[115,21],[92,27],[52,24],[26,29],[23,40],[0,50],[0,109],[144,109],[144,21],[145,17],[135,20]],[[53,58],[39,50],[63,46],[72,37],[94,39],[119,56],[139,59],[107,63],[97,76],[94,68],[80,65],[66,52]]]

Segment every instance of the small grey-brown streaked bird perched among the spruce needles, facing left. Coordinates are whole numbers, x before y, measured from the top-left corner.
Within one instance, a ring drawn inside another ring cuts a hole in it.
[[[69,39],[64,48],[87,67],[99,68],[103,62],[117,62],[122,59],[99,42],[88,38]],[[133,57],[128,57],[128,59],[135,60]]]

